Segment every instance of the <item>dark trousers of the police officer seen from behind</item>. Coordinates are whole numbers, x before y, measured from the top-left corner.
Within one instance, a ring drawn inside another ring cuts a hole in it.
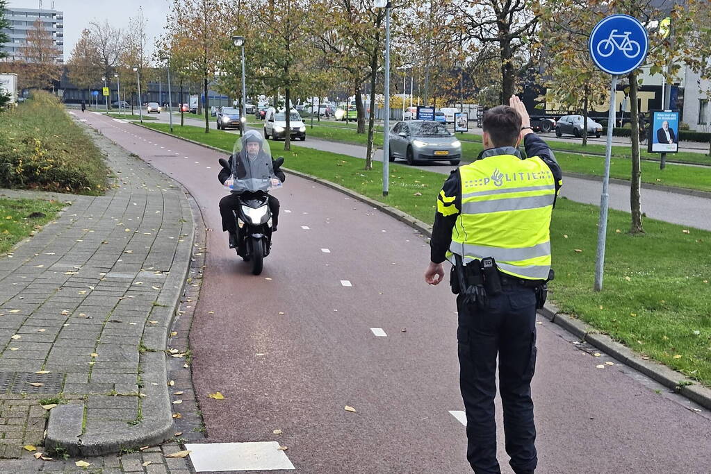
[[[496,356],[506,453],[517,474],[538,463],[530,382],[535,370],[535,292],[502,285],[485,304],[457,297],[459,386],[466,412],[466,458],[477,474],[498,474],[496,460]]]

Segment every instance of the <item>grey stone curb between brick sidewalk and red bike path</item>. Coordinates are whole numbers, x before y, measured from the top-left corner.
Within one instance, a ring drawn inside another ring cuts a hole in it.
[[[88,126],[87,126],[88,128]],[[101,139],[108,140],[103,136]],[[120,145],[114,143],[119,148]],[[122,150],[126,151],[122,148]],[[128,152],[126,152],[129,155]],[[142,161],[142,160],[141,160]],[[145,163],[145,162],[144,162]],[[154,172],[155,168],[151,167]],[[183,189],[171,177],[164,177],[176,187]],[[183,189],[183,199],[185,199]],[[50,411],[45,446],[48,449],[63,449],[71,456],[102,456],[117,453],[124,448],[137,448],[149,444],[162,443],[173,436],[173,418],[169,399],[169,390],[166,384],[166,355],[163,352],[167,347],[168,331],[176,312],[183,285],[185,285],[190,259],[195,238],[195,226],[191,206],[186,200],[186,209],[190,213],[191,222],[188,235],[184,236],[185,245],[176,247],[173,261],[183,262],[176,270],[168,273],[163,290],[157,298],[157,306],[152,307],[149,317],[160,321],[161,324],[144,327],[143,341],[146,347],[155,352],[145,351],[140,354],[139,368],[141,374],[139,406],[143,421],[135,426],[121,425],[120,422],[107,421],[95,429],[84,431],[85,408],[82,405],[60,405]]]

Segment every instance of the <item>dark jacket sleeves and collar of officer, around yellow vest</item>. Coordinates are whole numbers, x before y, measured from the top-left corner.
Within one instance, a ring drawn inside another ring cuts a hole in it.
[[[560,171],[560,166],[555,160],[555,155],[550,147],[538,137],[535,133],[528,133],[523,139],[523,145],[526,151],[526,155],[530,157],[538,157],[550,168],[553,173],[553,179],[555,180],[555,194],[557,195],[558,189],[562,185],[562,172]],[[494,155],[517,155],[520,156],[518,149],[513,147],[503,147],[494,148],[491,150],[484,150],[480,156],[481,158],[486,158],[488,156]],[[456,224],[456,218],[459,216],[461,211],[461,177],[459,175],[459,168],[452,170],[444,182],[442,187],[444,195],[447,197],[454,197],[454,206],[457,209],[455,214],[450,214],[449,216],[443,216],[437,211],[434,214],[434,225],[432,226],[432,239],[429,241],[429,253],[430,259],[434,263],[442,263],[447,258],[447,250],[449,250],[449,245],[451,244],[451,231]],[[442,199],[440,194],[437,199]],[[555,206],[555,202],[553,203]]]

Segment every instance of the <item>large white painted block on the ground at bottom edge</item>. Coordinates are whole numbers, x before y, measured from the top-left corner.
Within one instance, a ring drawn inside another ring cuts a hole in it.
[[[185,448],[198,473],[224,470],[295,469],[277,441],[256,443],[188,443]]]

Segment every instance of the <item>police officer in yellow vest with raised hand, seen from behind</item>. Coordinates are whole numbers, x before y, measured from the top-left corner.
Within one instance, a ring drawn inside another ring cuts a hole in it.
[[[479,160],[452,171],[439,193],[424,280],[437,285],[445,258],[454,264],[459,386],[471,468],[501,472],[493,402],[498,355],[509,463],[517,474],[533,473],[535,314],[552,279],[549,228],[561,172],[518,97],[486,111],[482,128]],[[518,150],[521,140],[527,159]]]

